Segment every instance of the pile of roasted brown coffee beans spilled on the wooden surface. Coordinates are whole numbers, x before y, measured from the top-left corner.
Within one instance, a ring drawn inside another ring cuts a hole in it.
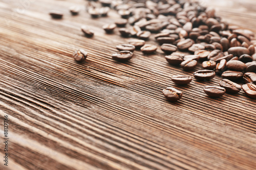
[[[120,52],[112,55],[114,60],[130,60],[133,51],[138,49],[144,54],[156,52],[157,45],[146,43],[154,37],[169,64],[180,65],[184,71],[189,71],[202,63],[202,70],[194,72],[195,79],[209,81],[216,75],[223,78],[220,87],[202,88],[207,95],[220,97],[225,92],[237,93],[243,89],[250,98],[256,98],[256,38],[253,32],[230,26],[216,16],[215,9],[188,0],[90,1],[88,12],[92,17],[99,17],[104,16],[102,11],[107,13],[111,8],[120,18],[104,25],[105,32],[113,33],[119,27],[120,36],[134,38],[129,44],[116,46]],[[82,31],[86,36],[93,35],[86,27]],[[238,83],[242,79],[244,85],[241,86]],[[180,85],[191,80],[189,76],[172,77],[172,81]],[[169,101],[182,97],[182,92],[173,87],[164,89],[163,94]]]

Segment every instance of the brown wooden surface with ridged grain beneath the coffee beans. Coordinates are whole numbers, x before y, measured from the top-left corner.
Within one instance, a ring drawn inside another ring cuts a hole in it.
[[[256,32],[255,1],[211,2],[202,1]],[[0,2],[1,136],[8,115],[10,140],[9,166],[2,157],[0,169],[255,169],[255,100],[243,91],[208,98],[203,87],[220,77],[176,86],[171,76],[191,75],[201,65],[184,72],[160,48],[113,61],[115,45],[129,38],[101,29],[115,20],[114,11],[94,20],[84,11],[70,15],[70,6],[85,3]],[[52,9],[63,19],[51,19]],[[84,37],[81,25],[95,36]],[[71,57],[77,48],[89,53],[83,64]],[[161,92],[167,86],[182,90],[182,100],[167,102]]]

